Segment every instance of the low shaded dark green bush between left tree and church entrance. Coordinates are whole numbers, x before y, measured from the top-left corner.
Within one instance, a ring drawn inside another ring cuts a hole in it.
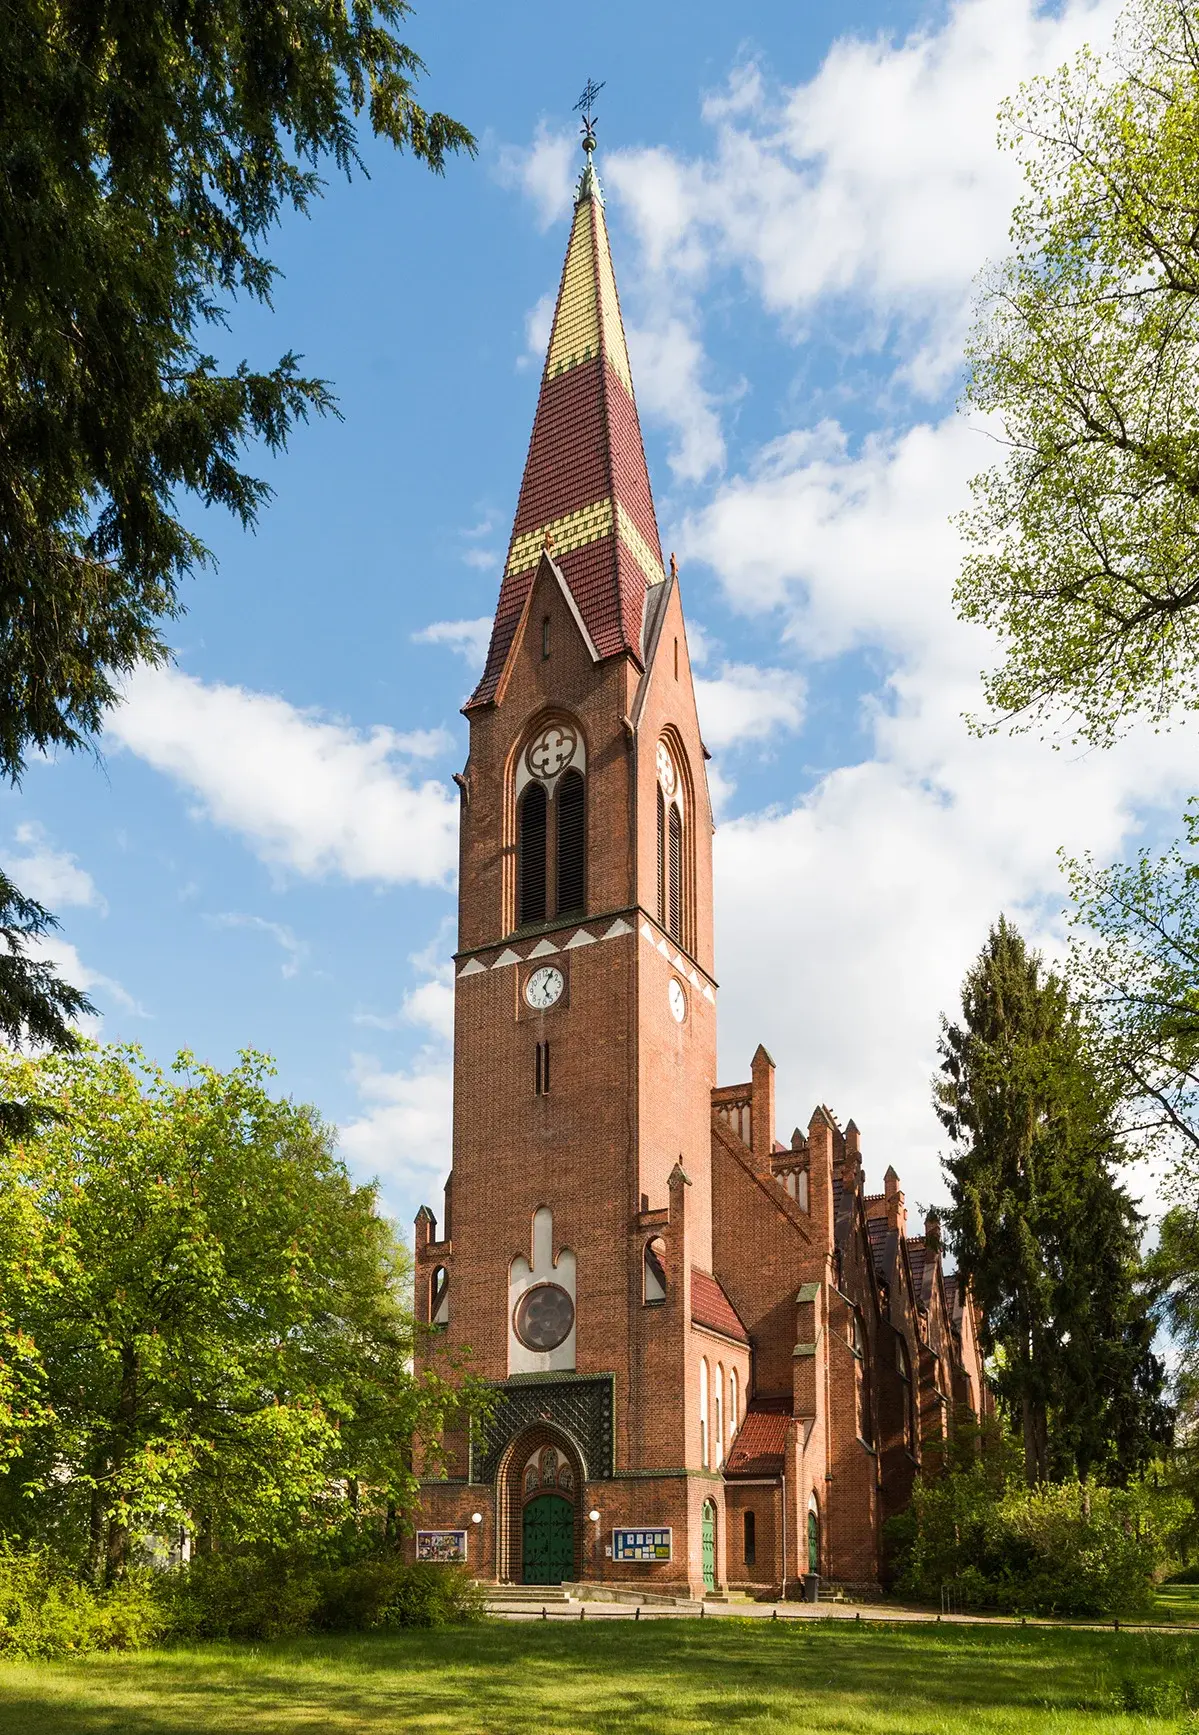
[[[482,1615],[482,1591],[456,1567],[394,1555],[328,1565],[297,1551],[212,1555],[163,1582],[179,1638],[292,1638],[446,1626]]]

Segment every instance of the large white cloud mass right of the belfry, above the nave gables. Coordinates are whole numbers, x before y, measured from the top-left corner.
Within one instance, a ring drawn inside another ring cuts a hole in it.
[[[784,1135],[824,1100],[862,1128],[875,1180],[895,1162],[925,1202],[942,1192],[937,1018],[987,926],[1006,911],[1057,947],[1058,847],[1117,855],[1194,786],[1185,729],[1088,755],[966,732],[994,645],[954,619],[947,517],[975,465],[953,418],[857,453],[826,427],[776,442],[687,531],[734,607],[770,611],[814,659],[869,647],[890,670],[862,701],[859,763],[717,833],[722,1077],[765,1041]]]

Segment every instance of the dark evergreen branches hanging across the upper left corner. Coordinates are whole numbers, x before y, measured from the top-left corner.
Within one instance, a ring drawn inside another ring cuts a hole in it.
[[[205,328],[269,302],[262,245],[356,121],[441,170],[474,151],[415,101],[406,0],[0,7],[0,774],[80,746],[206,559],[180,496],[253,524],[241,448],[324,411],[288,354],[220,370]]]

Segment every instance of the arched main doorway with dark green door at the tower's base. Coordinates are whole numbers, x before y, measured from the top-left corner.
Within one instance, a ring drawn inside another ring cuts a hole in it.
[[[583,1463],[573,1440],[543,1424],[526,1430],[503,1456],[500,1577],[512,1584],[562,1584],[580,1575]]]

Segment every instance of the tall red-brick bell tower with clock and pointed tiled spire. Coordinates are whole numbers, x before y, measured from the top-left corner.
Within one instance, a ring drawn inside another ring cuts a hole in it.
[[[720,1312],[711,807],[593,147],[588,125],[465,706],[453,1171],[441,1232],[416,1220],[418,1319],[495,1385],[496,1416],[423,1487],[422,1523],[481,1513],[481,1577],[694,1588],[720,1497],[696,1336]],[[656,1553],[630,1565],[626,1532]]]

